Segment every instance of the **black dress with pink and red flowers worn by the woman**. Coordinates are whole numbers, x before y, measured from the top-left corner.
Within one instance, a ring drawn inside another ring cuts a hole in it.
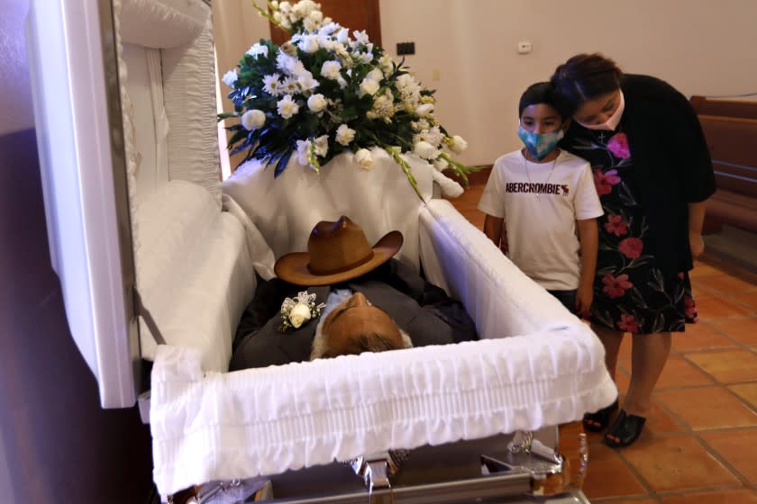
[[[663,275],[652,255],[646,211],[634,196],[634,161],[622,130],[581,130],[569,150],[594,173],[605,214],[597,219],[599,250],[591,322],[634,334],[682,331],[696,322],[689,274]]]

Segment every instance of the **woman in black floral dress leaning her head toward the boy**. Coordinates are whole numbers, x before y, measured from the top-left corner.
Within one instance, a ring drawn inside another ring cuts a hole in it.
[[[613,377],[624,334],[633,335],[631,384],[605,435],[608,446],[629,446],[652,406],[670,333],[697,318],[688,272],[704,250],[715,176],[696,113],[660,79],[580,54],[557,67],[552,83],[573,110],[561,147],[588,159],[605,210],[591,323]],[[584,426],[607,428],[617,408],[616,401],[587,414]]]

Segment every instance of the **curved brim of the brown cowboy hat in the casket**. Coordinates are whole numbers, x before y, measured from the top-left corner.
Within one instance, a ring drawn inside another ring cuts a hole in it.
[[[345,271],[329,275],[314,275],[307,267],[310,264],[310,254],[294,252],[278,258],[273,271],[278,278],[289,284],[315,287],[346,282],[360,275],[365,275],[391,259],[402,247],[402,233],[390,231],[373,246],[373,257],[369,261]]]

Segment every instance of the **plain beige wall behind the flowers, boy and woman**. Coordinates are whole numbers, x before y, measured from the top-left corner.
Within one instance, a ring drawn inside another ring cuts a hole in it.
[[[381,0],[380,10],[384,48],[396,56],[397,42],[415,41],[406,64],[437,89],[437,116],[469,140],[462,160],[471,164],[519,146],[520,94],[579,52],[601,51],[625,71],[659,76],[687,96],[757,92],[754,0]],[[236,44],[225,65],[219,56],[222,73],[268,37],[265,20],[249,14],[234,19],[245,35],[233,41],[222,42],[216,29],[219,51]],[[519,55],[518,40],[531,41],[533,51]]]

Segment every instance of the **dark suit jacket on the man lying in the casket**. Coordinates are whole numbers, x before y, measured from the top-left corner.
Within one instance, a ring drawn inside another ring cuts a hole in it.
[[[318,320],[280,333],[281,302],[304,290],[315,293],[316,302],[325,302],[332,288],[364,293],[406,331],[414,347],[477,338],[476,326],[460,302],[392,259],[367,275],[339,285],[306,288],[278,278],[261,281],[237,329],[230,371],[308,360]]]

